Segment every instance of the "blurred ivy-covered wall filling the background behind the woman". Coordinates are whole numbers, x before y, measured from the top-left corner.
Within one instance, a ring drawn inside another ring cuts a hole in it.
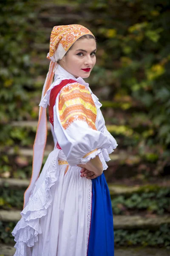
[[[109,186],[113,214],[169,215],[170,189],[164,187],[170,169],[168,6],[168,0],[0,1],[0,177],[31,177],[30,149],[48,72],[51,29],[78,23],[97,38],[96,66],[86,81],[99,97],[107,128],[119,144],[108,162],[107,181],[133,189],[142,183],[160,185],[129,194],[114,194]],[[52,149],[48,131],[46,150]],[[46,158],[47,154],[43,163]],[[2,187],[0,209],[22,209],[24,191]],[[1,243],[14,242],[15,224],[0,222]],[[123,245],[170,248],[169,224],[155,230],[133,224],[117,229],[115,246]]]

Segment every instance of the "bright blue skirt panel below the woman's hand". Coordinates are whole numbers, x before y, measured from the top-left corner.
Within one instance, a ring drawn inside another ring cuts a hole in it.
[[[113,213],[104,174],[92,180],[92,211],[87,256],[114,256]]]

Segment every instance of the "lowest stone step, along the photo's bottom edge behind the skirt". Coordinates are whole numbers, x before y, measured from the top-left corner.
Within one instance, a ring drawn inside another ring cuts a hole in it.
[[[15,250],[12,245],[0,244],[0,256],[13,256]],[[124,247],[121,249],[115,248],[114,256],[170,256],[170,250],[154,247]]]

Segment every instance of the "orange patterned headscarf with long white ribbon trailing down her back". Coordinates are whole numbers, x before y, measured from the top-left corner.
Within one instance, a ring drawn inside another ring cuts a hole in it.
[[[47,58],[51,59],[49,70],[45,79],[45,83],[42,89],[41,99],[45,96],[48,88],[50,87],[54,72],[58,65],[57,61],[61,60],[68,49],[77,41],[78,38],[83,35],[93,35],[91,31],[79,24],[54,26],[50,37],[50,50],[48,52]],[[94,35],[93,35],[94,36]],[[95,37],[94,37],[95,39]],[[47,140],[47,116],[46,108],[40,106],[39,119],[37,126],[37,133],[34,140],[33,146],[33,163],[32,163],[32,175],[31,181],[24,193],[24,205],[28,203],[30,193],[34,187],[36,180],[40,175],[40,169],[42,166],[42,160],[44,157],[44,150]]]

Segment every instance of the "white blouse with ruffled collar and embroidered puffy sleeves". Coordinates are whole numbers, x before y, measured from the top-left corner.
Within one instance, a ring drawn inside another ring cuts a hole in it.
[[[55,147],[58,142],[71,166],[85,164],[99,155],[105,170],[108,168],[105,161],[110,160],[109,154],[118,144],[105,126],[100,110],[102,104],[88,83],[81,77],[75,78],[58,65],[54,82],[40,106],[46,108],[49,105],[51,89],[64,79],[75,80],[75,83],[64,86],[56,98],[54,128],[51,125]]]

